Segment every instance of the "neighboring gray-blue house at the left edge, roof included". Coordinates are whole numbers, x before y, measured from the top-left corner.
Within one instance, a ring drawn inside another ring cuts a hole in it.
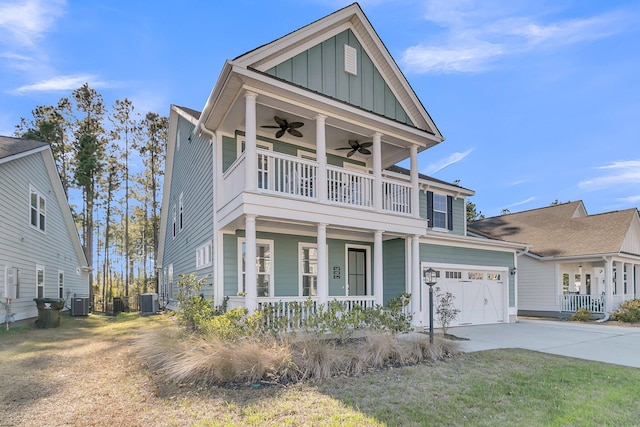
[[[13,320],[34,298],[89,295],[89,268],[49,144],[0,136],[0,301]],[[0,320],[5,321],[0,305]]]

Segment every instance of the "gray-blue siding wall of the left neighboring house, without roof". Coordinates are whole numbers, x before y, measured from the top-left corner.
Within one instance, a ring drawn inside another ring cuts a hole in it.
[[[89,277],[82,270],[85,260],[78,259],[63,215],[68,206],[60,206],[54,183],[43,156],[44,150],[0,164],[0,298],[4,300],[6,268],[19,269],[20,297],[11,304],[14,320],[38,315],[36,304],[36,265],[44,267],[44,296],[58,298],[58,272],[64,274],[66,308],[75,294],[89,295]],[[60,185],[60,183],[55,183]],[[31,226],[30,186],[45,199],[45,232]],[[4,310],[0,320],[4,321]]]

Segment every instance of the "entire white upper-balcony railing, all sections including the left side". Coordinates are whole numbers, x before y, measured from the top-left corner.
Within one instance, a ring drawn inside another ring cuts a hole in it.
[[[245,188],[245,154],[224,173],[220,192],[224,203],[231,201]],[[318,162],[273,151],[257,150],[258,191],[318,200]],[[327,202],[360,209],[374,208],[375,179],[373,175],[337,166],[327,166]],[[408,181],[383,178],[381,209],[395,214],[411,215],[411,192]]]

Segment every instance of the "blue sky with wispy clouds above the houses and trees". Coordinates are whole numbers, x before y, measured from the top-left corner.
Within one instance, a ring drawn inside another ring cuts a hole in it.
[[[349,1],[0,0],[0,134],[84,82],[108,105],[202,109],[226,59]],[[446,140],[423,173],[487,216],[640,206],[640,2],[365,0]]]

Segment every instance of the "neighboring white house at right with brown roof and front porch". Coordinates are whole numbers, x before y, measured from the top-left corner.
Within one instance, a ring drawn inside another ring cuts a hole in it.
[[[577,201],[482,219],[469,230],[530,245],[518,257],[520,314],[607,313],[640,297],[637,209],[588,215]]]

